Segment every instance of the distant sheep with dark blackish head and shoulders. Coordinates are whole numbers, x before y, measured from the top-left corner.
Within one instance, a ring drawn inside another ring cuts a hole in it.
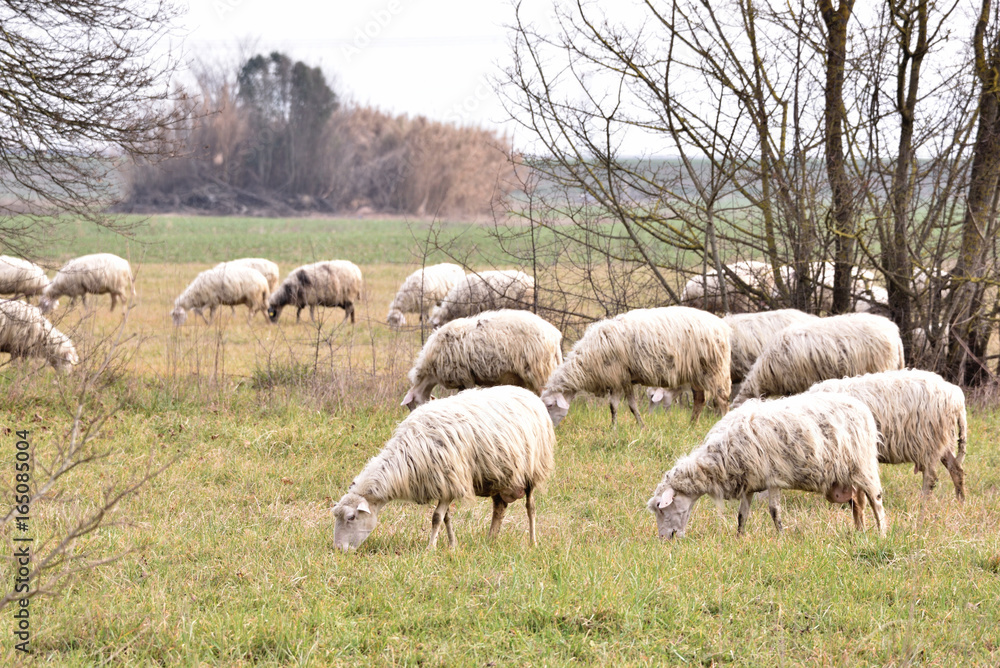
[[[354,324],[354,302],[361,296],[361,270],[347,260],[329,260],[302,265],[288,274],[278,289],[271,293],[267,303],[267,317],[278,322],[281,309],[291,304],[296,307],[295,322],[302,317],[302,309],[309,307],[309,320],[316,322],[316,307],[327,306],[344,309],[344,320]]]

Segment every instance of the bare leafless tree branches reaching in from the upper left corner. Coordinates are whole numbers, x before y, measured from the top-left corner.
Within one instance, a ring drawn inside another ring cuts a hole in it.
[[[29,255],[53,214],[123,229],[102,214],[120,158],[154,156],[180,120],[160,50],[177,13],[171,0],[0,1],[0,251]]]

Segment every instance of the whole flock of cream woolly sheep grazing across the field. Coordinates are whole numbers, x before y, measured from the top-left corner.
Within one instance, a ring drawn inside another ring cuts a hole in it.
[[[744,264],[731,268],[745,270],[747,283],[757,280],[752,263]],[[701,306],[714,308],[713,277],[692,279],[685,299],[696,302],[692,295],[700,289]],[[174,323],[182,324],[189,310],[208,322],[219,306],[239,304],[248,318],[266,311],[271,322],[290,305],[297,319],[307,306],[311,318],[324,306],[343,308],[344,319],[354,322],[362,284],[356,265],[317,262],[278,279],[268,260],[220,263],[177,298]],[[863,273],[856,286],[869,307],[882,298]],[[690,306],[636,309],[591,324],[564,358],[562,334],[530,312],[534,291],[522,272],[466,274],[453,264],[417,270],[403,282],[389,325],[400,327],[406,313],[416,313],[436,329],[408,376],[412,386],[402,403],[412,413],[333,509],[338,548],[360,545],[393,500],[435,503],[430,546],[442,523],[454,545],[451,504],[470,496],[492,498],[494,535],[508,504],[523,497],[535,544],[533,493],[552,472],[555,427],[581,392],[608,397],[612,423],[624,398],[641,424],[636,385],[647,386],[654,402],[689,388],[692,422],[706,401],[724,416],[655,488],[648,508],[661,537],[683,535],[704,494],[739,499],[742,532],[754,494],[766,491],[780,531],[782,489],[850,502],[859,530],[867,502],[884,533],[880,462],[913,464],[924,493],[933,489],[941,462],[964,499],[964,394],[937,374],[906,369],[898,328],[872,308],[825,318],[754,311],[738,301],[729,306],[742,312],[725,317]],[[78,362],[73,343],[44,313],[61,296],[85,302],[87,294],[110,294],[114,309],[130,292],[128,262],[114,255],[71,260],[51,282],[41,268],[2,256],[0,294],[41,300],[39,307],[0,301],[0,352],[69,368]],[[430,401],[437,385],[464,391]]]

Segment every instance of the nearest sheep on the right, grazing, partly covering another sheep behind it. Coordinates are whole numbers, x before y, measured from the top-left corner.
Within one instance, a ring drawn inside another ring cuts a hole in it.
[[[865,498],[881,535],[887,525],[878,475],[878,430],[862,402],[840,394],[748,401],[709,430],[700,446],[663,476],[647,503],[660,538],[683,537],[691,508],[703,494],[717,502],[740,499],[737,535],[756,492],[767,490],[771,519],[781,533],[781,490],[853,501],[854,526],[864,529]]]

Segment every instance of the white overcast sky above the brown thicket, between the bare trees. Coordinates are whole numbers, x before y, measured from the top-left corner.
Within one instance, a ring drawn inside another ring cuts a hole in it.
[[[235,67],[250,44],[319,65],[338,95],[360,104],[487,127],[506,120],[492,79],[510,60],[510,0],[189,3],[188,58]],[[548,1],[535,5],[541,18],[551,11]]]

